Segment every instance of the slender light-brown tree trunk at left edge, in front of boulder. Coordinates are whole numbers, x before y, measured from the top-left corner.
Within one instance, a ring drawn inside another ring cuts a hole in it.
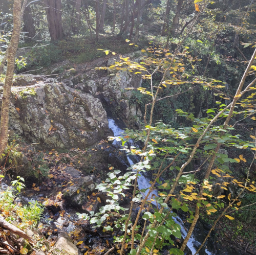
[[[11,87],[14,75],[15,54],[18,48],[20,30],[22,27],[22,0],[15,0],[13,4],[13,32],[8,47],[8,64],[2,98],[1,123],[0,123],[0,155],[3,154],[8,142],[9,106]]]

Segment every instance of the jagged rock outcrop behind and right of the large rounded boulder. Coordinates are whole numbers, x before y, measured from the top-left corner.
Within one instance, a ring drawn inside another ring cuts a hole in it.
[[[141,62],[141,51],[125,55],[134,62]],[[141,117],[141,109],[130,102],[131,90],[126,88],[138,88],[142,83],[141,74],[129,72],[129,70],[95,69],[95,67],[109,67],[118,61],[118,57],[97,59],[92,63],[77,66],[76,70],[62,73],[57,79],[66,83],[71,88],[90,93],[100,99],[106,110],[119,111],[123,119],[138,115]],[[71,72],[73,72],[71,74]]]

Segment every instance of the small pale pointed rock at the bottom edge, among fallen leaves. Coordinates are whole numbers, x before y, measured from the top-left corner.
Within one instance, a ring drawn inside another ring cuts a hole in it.
[[[53,247],[56,251],[67,252],[70,255],[79,255],[78,248],[73,244],[71,238],[66,232],[58,235],[58,240]]]

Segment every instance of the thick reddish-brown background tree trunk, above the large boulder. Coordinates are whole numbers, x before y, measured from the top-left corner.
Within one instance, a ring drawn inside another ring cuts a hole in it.
[[[44,3],[51,40],[62,39],[64,33],[61,26],[61,0],[44,0]]]

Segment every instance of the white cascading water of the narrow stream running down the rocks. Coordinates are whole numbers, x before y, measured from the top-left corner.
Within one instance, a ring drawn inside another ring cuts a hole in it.
[[[123,130],[120,129],[114,120],[112,119],[109,119],[109,128],[112,129],[113,133],[114,133],[114,136],[120,136],[122,133],[123,133]],[[113,142],[113,144],[117,144],[116,141]],[[130,158],[129,155],[127,155],[127,159],[129,161],[129,164],[130,166],[134,165],[132,159]],[[147,189],[147,188],[150,188],[151,187],[151,184],[150,184],[150,180],[148,180],[146,177],[144,177],[142,175],[142,173],[140,173],[140,176],[138,178],[138,187],[139,189]],[[145,195],[147,195],[148,193],[148,190],[144,193]],[[153,191],[152,192],[152,195],[156,195],[157,196],[157,191]],[[152,195],[150,197],[152,197]],[[181,227],[181,235],[183,238],[185,238],[187,236],[187,231],[184,227],[184,224],[182,222],[182,219],[180,217],[176,217],[174,218],[174,221],[180,225]],[[194,244],[200,244],[198,241],[196,241],[194,235],[191,235],[191,237],[189,238],[188,242],[187,242],[187,247],[190,249],[190,251],[192,252],[192,254],[195,254],[196,251],[197,251],[197,248],[194,246]],[[212,255],[212,253],[210,251],[208,251],[207,249],[205,249],[205,252],[208,254],[208,255]]]

